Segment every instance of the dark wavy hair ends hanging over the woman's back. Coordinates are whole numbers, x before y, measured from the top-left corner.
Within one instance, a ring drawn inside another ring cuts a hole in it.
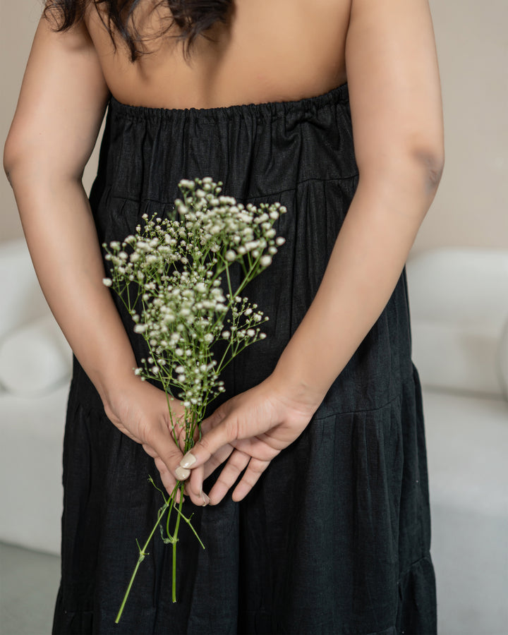
[[[75,23],[83,20],[87,5],[92,3],[98,11],[98,5],[104,7],[106,20],[99,16],[116,50],[115,33],[118,33],[131,52],[131,61],[146,54],[143,47],[143,35],[138,31],[133,20],[135,9],[143,0],[48,0],[44,6],[44,18],[56,18],[56,31],[66,31]],[[177,37],[183,43],[183,52],[187,57],[198,35],[205,35],[217,21],[226,22],[226,14],[231,8],[232,0],[159,0],[154,2],[152,11],[162,7],[171,12],[169,23],[162,27],[157,37],[165,35],[176,24],[179,29]]]

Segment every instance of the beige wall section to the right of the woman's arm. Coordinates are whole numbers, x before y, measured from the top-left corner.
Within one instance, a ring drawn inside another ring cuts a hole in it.
[[[508,248],[508,2],[430,0],[446,165],[414,251]]]

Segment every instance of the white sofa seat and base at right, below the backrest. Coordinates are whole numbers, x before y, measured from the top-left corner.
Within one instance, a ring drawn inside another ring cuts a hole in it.
[[[508,404],[426,390],[440,635],[508,635]]]

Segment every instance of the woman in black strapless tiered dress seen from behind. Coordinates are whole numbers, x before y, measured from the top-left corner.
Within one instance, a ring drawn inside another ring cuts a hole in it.
[[[426,0],[48,8],[4,164],[75,353],[54,632],[435,632],[404,272],[443,164]],[[81,176],[108,104],[88,200]],[[288,213],[286,244],[248,289],[267,338],[224,373],[183,457],[164,394],[133,374],[143,342],[102,285],[99,245],[195,176]],[[181,532],[172,604],[155,540],[115,627],[133,538],[160,504],[154,460],[168,491],[188,479],[206,550]]]

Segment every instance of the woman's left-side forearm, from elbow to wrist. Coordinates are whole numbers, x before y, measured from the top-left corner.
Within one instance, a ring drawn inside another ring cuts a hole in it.
[[[44,296],[102,401],[133,377],[135,357],[109,290],[95,224],[78,179],[45,174],[32,157],[9,172]]]

